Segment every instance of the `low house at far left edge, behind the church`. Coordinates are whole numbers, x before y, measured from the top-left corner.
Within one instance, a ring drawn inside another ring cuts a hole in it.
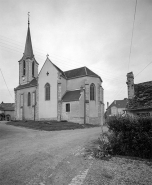
[[[0,104],[0,120],[14,120],[15,105],[14,103]]]

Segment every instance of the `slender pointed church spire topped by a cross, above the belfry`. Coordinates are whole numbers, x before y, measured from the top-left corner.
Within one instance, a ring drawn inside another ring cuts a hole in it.
[[[28,12],[28,30],[26,36],[26,43],[25,43],[25,50],[24,56],[27,58],[33,58],[33,48],[32,48],[32,41],[31,41],[31,34],[30,34],[30,12]]]

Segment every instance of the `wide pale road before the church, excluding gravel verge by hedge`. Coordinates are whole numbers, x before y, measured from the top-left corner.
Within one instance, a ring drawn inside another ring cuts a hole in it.
[[[47,132],[0,122],[0,185],[83,184],[93,163],[84,158],[84,146],[100,132]]]

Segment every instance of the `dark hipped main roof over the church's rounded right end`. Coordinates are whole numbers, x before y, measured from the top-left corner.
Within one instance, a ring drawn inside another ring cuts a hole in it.
[[[94,73],[93,71],[91,71],[87,67],[81,67],[81,68],[65,71],[64,74],[67,79],[78,78],[78,77],[82,77],[82,76],[92,76],[92,77],[97,77],[102,81],[100,76],[98,76],[96,73]]]

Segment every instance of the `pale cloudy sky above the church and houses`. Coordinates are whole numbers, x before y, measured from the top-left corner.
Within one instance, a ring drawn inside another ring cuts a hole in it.
[[[134,22],[135,5],[136,0],[0,0],[0,102],[14,102],[28,12],[39,71],[47,54],[63,71],[88,67],[103,80],[105,109],[107,102],[127,98],[128,72],[135,83],[151,81],[152,0],[137,0]]]

